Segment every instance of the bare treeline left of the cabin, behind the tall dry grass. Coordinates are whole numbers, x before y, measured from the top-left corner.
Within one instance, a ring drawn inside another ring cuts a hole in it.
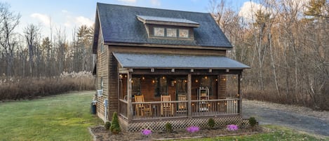
[[[50,27],[51,35],[41,34],[39,25],[27,25],[15,32],[20,14],[0,2],[1,76],[59,76],[62,72],[91,72],[93,27],[82,25],[68,41],[65,29]]]

